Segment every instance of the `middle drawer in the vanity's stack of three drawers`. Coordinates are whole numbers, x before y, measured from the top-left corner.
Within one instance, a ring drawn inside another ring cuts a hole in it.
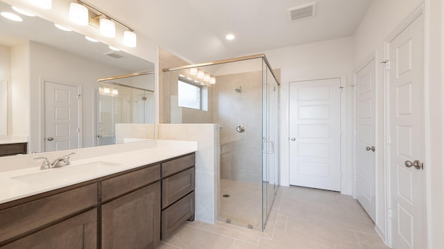
[[[194,190],[195,167],[162,180],[162,209]]]

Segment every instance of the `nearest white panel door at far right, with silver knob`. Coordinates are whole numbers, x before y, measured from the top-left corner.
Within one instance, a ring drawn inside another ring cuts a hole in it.
[[[423,25],[420,15],[388,48],[393,248],[426,248]],[[409,163],[416,160],[418,169]]]

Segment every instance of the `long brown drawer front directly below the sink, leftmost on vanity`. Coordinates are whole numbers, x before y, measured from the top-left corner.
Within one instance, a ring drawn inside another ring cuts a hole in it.
[[[97,204],[97,184],[0,210],[0,242]]]

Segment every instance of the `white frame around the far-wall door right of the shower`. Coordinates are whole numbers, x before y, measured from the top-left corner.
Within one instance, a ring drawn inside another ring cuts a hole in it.
[[[287,124],[284,131],[282,131],[282,147],[285,147],[287,151],[290,151],[290,84],[291,82],[302,82],[302,81],[312,81],[312,80],[328,80],[328,79],[340,79],[341,80],[341,87],[342,87],[342,93],[341,97],[339,98],[339,110],[341,113],[341,117],[339,118],[340,127],[341,127],[341,138],[340,138],[340,150],[341,150],[341,194],[352,194],[352,169],[351,167],[348,167],[347,163],[347,154],[346,154],[346,148],[347,148],[347,141],[348,141],[348,132],[346,132],[346,122],[347,122],[347,96],[348,96],[348,87],[347,87],[347,75],[344,73],[342,75],[319,75],[318,77],[301,77],[296,79],[291,79],[287,81],[287,113],[285,113],[285,116],[287,117]],[[281,86],[282,87],[282,86]],[[285,141],[285,142],[284,142]],[[282,152],[281,152],[282,153]],[[281,165],[282,167],[283,165]],[[290,154],[287,153],[287,163],[284,166],[286,168],[281,168],[281,171],[288,172],[288,178],[290,177]],[[289,180],[287,180],[289,183]]]

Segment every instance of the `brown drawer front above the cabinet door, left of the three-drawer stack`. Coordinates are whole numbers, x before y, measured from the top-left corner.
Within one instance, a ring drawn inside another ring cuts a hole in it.
[[[135,190],[138,187],[148,185],[160,180],[160,165],[154,165],[139,169],[135,172],[116,176],[108,180],[102,181],[102,199],[107,201],[121,194]]]

